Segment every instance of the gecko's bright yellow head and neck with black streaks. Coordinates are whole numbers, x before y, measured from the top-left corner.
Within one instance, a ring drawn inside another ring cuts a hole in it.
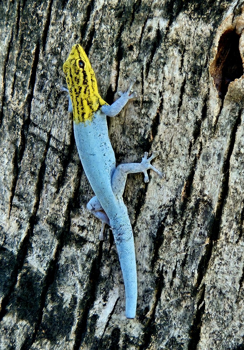
[[[79,44],[72,46],[63,65],[76,123],[92,121],[94,113],[106,102],[98,93],[95,73],[85,51]]]

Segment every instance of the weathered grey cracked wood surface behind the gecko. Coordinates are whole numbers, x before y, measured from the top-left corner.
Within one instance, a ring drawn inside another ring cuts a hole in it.
[[[0,349],[244,349],[244,82],[235,57],[233,82],[225,55],[214,61],[228,30],[244,60],[242,1],[20,0],[0,9]],[[112,233],[100,243],[86,209],[93,194],[60,92],[75,42],[107,102],[137,78],[138,98],[109,121],[118,163],[158,150],[154,165],[166,174],[148,184],[131,175],[124,194],[134,320],[124,316]]]

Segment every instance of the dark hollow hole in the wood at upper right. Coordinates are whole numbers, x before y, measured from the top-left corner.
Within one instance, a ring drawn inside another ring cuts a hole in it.
[[[222,101],[230,82],[243,75],[239,41],[240,35],[235,30],[226,30],[220,37],[217,54],[210,66],[210,74]]]

